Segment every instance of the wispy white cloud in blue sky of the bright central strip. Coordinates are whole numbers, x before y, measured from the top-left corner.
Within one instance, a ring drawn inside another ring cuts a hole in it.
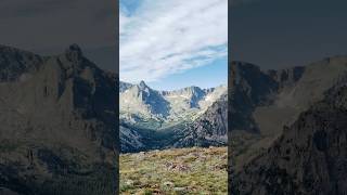
[[[228,0],[142,0],[119,30],[120,79],[159,80],[227,55]]]

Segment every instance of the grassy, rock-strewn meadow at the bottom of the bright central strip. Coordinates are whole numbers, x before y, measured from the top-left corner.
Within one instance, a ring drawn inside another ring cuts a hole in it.
[[[120,194],[227,194],[227,147],[120,155]]]

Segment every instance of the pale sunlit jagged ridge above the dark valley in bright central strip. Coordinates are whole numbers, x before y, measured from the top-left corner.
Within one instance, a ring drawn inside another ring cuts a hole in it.
[[[181,90],[157,91],[146,86],[144,81],[139,84],[120,81],[119,88],[121,113],[171,121],[203,113],[227,92],[227,86],[211,89],[188,87]]]

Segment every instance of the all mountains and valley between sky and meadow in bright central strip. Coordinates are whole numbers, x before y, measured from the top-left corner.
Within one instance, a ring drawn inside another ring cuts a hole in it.
[[[227,86],[157,91],[119,82],[123,153],[227,145]]]

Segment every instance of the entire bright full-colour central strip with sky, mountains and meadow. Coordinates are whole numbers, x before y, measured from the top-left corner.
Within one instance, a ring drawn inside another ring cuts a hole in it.
[[[119,1],[119,193],[228,193],[228,0]]]

